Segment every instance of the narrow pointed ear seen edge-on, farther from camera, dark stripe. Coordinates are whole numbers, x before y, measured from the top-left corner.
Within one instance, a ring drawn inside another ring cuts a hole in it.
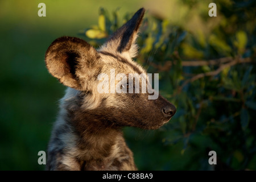
[[[131,57],[135,57],[138,52],[135,42],[144,12],[144,8],[139,9],[128,22],[110,36],[110,39],[101,47],[101,51],[127,52]]]

